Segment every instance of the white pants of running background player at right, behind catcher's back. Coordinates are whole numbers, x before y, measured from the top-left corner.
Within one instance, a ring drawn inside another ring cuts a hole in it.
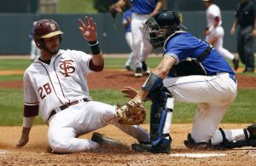
[[[214,38],[217,38],[217,41],[213,46],[217,49],[218,53],[229,60],[233,60],[235,55],[231,54],[229,50],[224,49],[223,47],[224,29],[222,26],[213,28],[211,33],[207,35],[206,41],[210,43],[210,41],[214,40]]]

